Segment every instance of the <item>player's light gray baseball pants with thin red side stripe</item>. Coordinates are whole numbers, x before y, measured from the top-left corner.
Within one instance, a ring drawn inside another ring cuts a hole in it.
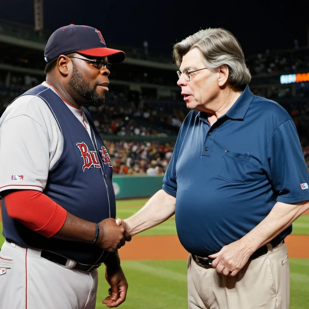
[[[95,309],[97,269],[67,269],[38,249],[5,241],[0,252],[0,309]]]

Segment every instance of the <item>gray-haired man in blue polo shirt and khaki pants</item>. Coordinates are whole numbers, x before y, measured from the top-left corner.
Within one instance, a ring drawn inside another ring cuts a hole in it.
[[[201,30],[174,46],[191,111],[163,188],[133,217],[131,235],[175,213],[188,258],[190,309],[288,309],[284,240],[309,208],[309,174],[293,120],[252,94],[235,36]]]

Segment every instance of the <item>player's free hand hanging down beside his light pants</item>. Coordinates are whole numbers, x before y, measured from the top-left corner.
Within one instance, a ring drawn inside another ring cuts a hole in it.
[[[111,287],[108,289],[109,296],[104,299],[103,303],[108,308],[118,307],[125,301],[128,290],[128,282],[121,266],[116,268],[106,266],[105,278]]]

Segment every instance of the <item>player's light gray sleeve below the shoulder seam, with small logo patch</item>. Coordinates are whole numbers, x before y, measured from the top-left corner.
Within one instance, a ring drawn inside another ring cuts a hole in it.
[[[7,120],[0,138],[0,192],[43,191],[49,172],[49,140],[40,124],[19,115]]]

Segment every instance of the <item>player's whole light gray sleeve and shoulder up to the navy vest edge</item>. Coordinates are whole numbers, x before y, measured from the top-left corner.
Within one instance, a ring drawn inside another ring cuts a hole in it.
[[[30,95],[16,99],[0,118],[0,193],[42,192],[62,148],[61,131],[44,101]]]

